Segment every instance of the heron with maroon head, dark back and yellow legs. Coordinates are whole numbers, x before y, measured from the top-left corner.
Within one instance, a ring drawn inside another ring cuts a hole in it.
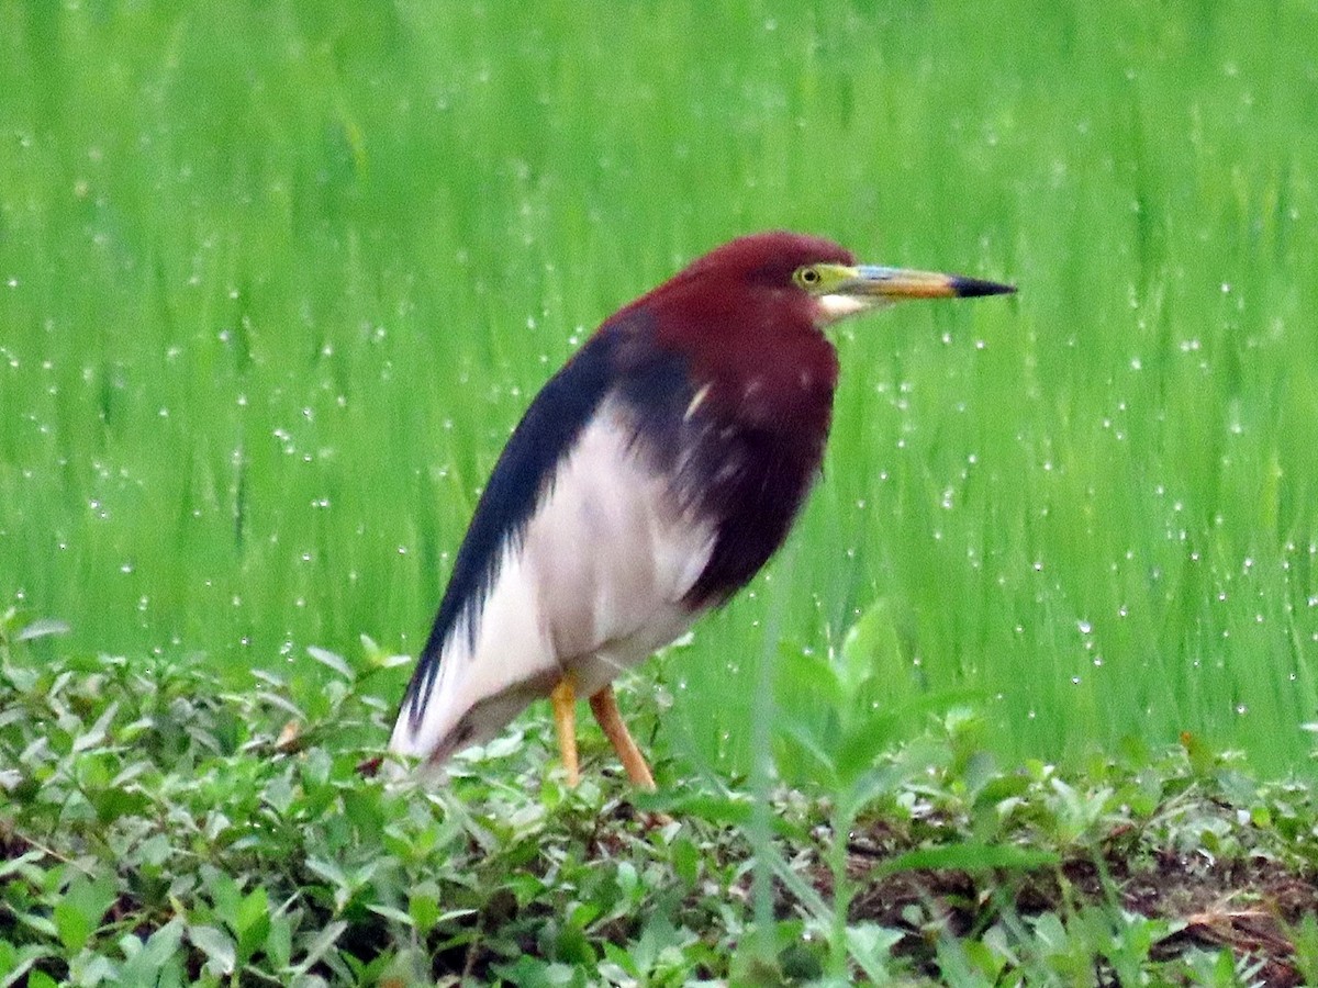
[[[494,464],[390,750],[439,765],[548,697],[576,785],[585,697],[627,777],[654,789],[613,681],[783,544],[833,415],[838,358],[824,331],[903,299],[1012,291],[858,263],[829,240],[772,231],[710,250],[609,316]]]

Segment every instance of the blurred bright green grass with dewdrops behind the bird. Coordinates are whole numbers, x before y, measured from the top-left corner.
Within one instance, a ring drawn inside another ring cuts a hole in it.
[[[604,316],[797,228],[1020,294],[838,335],[791,548],[642,673],[666,750],[745,769],[766,624],[791,685],[871,611],[884,706],[969,688],[1006,757],[1294,768],[1315,37],[1302,0],[0,0],[0,603],[312,703],[307,645],[416,651]]]

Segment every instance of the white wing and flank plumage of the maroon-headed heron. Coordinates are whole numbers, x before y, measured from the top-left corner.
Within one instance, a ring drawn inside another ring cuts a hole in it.
[[[559,464],[521,544],[505,547],[477,609],[474,649],[460,620],[419,723],[405,703],[391,751],[443,761],[497,734],[567,672],[577,694],[590,696],[695,619],[681,598],[709,560],[713,532],[679,512],[630,448],[623,415],[602,406]]]

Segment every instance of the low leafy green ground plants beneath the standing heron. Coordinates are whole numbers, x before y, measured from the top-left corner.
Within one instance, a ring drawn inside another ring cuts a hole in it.
[[[737,780],[634,797],[602,739],[565,790],[534,719],[447,786],[365,775],[389,711],[326,652],[308,718],[53,630],[0,642],[4,985],[1318,980],[1314,790],[1193,738],[999,768],[958,709],[759,837]]]

